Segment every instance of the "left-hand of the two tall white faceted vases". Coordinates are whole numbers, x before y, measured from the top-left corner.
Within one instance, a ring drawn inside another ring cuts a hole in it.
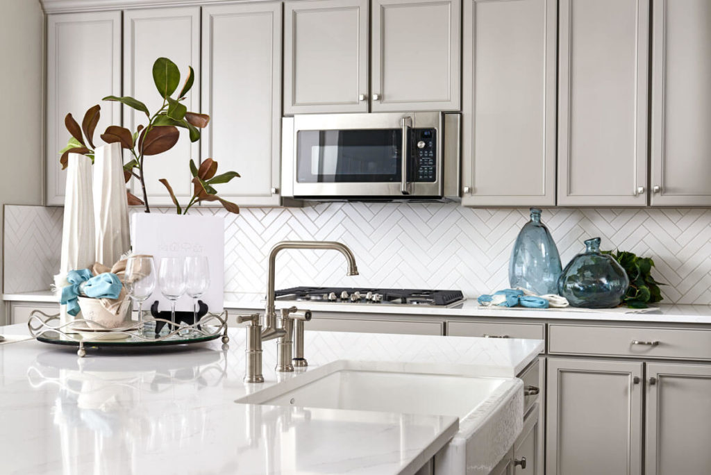
[[[55,280],[61,281],[70,270],[91,268],[95,262],[91,167],[88,156],[69,154],[62,227],[62,257],[59,279]],[[60,319],[62,323],[74,319],[67,314],[65,305],[61,306]]]

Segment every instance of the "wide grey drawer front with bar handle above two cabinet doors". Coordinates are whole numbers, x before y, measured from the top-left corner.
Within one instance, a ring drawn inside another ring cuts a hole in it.
[[[634,326],[550,325],[549,353],[711,359],[711,331]]]

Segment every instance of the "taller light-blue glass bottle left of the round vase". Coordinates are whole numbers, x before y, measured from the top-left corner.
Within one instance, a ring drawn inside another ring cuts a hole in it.
[[[538,295],[557,294],[560,255],[548,228],[540,222],[540,209],[530,208],[531,220],[523,225],[511,250],[508,283]]]

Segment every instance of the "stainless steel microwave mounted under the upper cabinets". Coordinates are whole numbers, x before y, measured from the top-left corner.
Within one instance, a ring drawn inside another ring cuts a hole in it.
[[[282,122],[282,196],[444,200],[459,196],[461,115],[302,114]]]

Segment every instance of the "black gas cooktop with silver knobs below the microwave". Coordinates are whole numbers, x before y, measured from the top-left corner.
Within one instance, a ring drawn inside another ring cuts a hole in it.
[[[274,292],[277,300],[332,304],[454,306],[464,300],[459,290],[292,287]]]

